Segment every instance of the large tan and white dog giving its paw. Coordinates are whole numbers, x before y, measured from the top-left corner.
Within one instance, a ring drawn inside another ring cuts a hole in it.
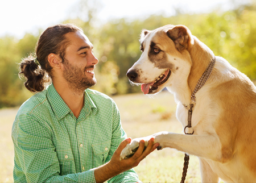
[[[224,58],[214,56],[183,25],[143,30],[140,42],[142,55],[127,77],[142,85],[144,94],[156,94],[164,88],[174,94],[176,117],[185,134],[158,132],[133,139],[121,152],[121,159],[131,156],[140,140],[148,144],[154,137],[159,149],[175,148],[199,157],[202,182],[218,182],[219,178],[256,182],[253,82]]]

